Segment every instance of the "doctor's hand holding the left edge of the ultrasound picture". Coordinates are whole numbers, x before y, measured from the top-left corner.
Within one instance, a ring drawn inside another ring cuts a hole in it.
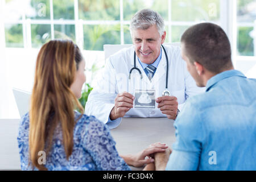
[[[125,116],[127,111],[133,108],[134,96],[128,92],[123,92],[117,95],[115,98],[115,106],[110,112],[110,119],[115,120]]]

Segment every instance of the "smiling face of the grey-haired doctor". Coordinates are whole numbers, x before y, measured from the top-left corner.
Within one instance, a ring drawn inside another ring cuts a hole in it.
[[[147,30],[136,29],[132,32],[133,44],[139,60],[145,64],[152,64],[160,55],[161,44],[166,39],[166,32],[159,35],[156,25]]]

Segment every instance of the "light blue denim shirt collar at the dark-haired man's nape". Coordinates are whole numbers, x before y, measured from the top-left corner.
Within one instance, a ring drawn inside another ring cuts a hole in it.
[[[243,73],[241,73],[240,71],[234,70],[234,69],[218,73],[217,75],[213,76],[212,78],[210,78],[208,80],[207,86],[206,86],[206,92],[208,92],[210,90],[210,88],[212,88],[213,85],[217,84],[217,82],[224,80],[225,78],[229,78],[229,77],[233,77],[233,76],[245,77],[245,75],[243,75]]]

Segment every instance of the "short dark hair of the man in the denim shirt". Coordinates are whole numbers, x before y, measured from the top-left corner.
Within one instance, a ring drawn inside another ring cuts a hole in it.
[[[189,60],[202,64],[210,72],[220,73],[233,66],[228,36],[217,24],[200,23],[188,28],[181,43]]]

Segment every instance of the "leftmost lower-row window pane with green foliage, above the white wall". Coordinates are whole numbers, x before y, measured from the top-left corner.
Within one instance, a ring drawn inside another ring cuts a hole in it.
[[[22,24],[5,24],[6,47],[23,47]]]

